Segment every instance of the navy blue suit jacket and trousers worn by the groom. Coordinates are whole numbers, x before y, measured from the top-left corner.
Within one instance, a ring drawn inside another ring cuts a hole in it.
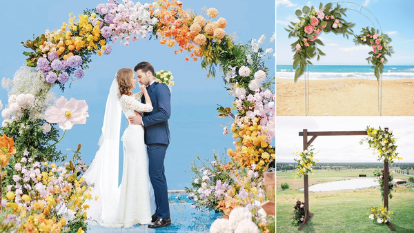
[[[155,192],[157,218],[168,219],[170,218],[170,207],[164,159],[168,144],[170,144],[168,119],[171,115],[171,93],[167,85],[154,82],[148,87],[148,94],[152,108],[154,108],[152,112],[144,112],[144,117],[142,117],[142,123],[145,127],[145,144],[148,151],[148,170]],[[144,96],[141,102],[145,103]]]

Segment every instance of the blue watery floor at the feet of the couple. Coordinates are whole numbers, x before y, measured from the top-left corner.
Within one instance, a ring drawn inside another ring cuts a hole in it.
[[[134,225],[130,228],[106,228],[99,224],[88,224],[88,233],[115,232],[208,232],[211,223],[221,215],[214,211],[196,210],[191,207],[193,201],[185,193],[170,193],[170,216],[172,225],[160,229],[150,229],[148,225]]]

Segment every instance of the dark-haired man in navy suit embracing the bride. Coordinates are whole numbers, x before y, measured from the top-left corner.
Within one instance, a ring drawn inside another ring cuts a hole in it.
[[[170,130],[168,119],[171,114],[171,95],[167,85],[155,82],[155,72],[152,65],[146,61],[135,65],[139,83],[146,85],[148,94],[152,101],[152,112],[144,112],[129,117],[130,123],[144,125],[145,144],[147,145],[149,173],[152,188],[155,192],[155,203],[157,212],[152,216],[152,223],[149,228],[161,228],[171,225],[170,206],[168,204],[168,188],[164,168],[166,150],[170,144]],[[145,103],[144,97],[141,99]]]

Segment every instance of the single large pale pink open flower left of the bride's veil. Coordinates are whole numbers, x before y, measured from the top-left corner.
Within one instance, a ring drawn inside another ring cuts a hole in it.
[[[56,107],[46,109],[45,118],[50,123],[59,123],[62,130],[70,130],[74,124],[86,123],[86,117],[89,117],[87,111],[86,101],[73,98],[68,101],[65,97],[60,97],[56,101]]]

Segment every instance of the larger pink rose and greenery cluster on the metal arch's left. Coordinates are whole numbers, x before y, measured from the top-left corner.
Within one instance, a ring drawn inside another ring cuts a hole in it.
[[[313,6],[311,8],[304,6],[302,11],[296,10],[295,12],[299,23],[290,22],[294,28],[290,25],[288,26],[289,29],[285,28],[289,32],[289,38],[298,37],[297,41],[291,44],[292,52],[295,52],[295,55],[293,55],[293,69],[296,69],[295,82],[304,73],[306,65],[312,65],[310,59],[317,54],[317,60],[319,61],[319,55],[324,55],[324,52],[317,48],[317,43],[324,45],[322,41],[317,39],[321,32],[340,33],[347,39],[348,34],[353,34],[351,28],[355,23],[348,23],[342,18],[342,15],[346,16],[344,13],[346,8],[340,8],[339,4],[335,8],[331,7],[332,3],[328,3],[326,6],[320,3],[319,9]],[[297,68],[298,64],[299,67]]]

